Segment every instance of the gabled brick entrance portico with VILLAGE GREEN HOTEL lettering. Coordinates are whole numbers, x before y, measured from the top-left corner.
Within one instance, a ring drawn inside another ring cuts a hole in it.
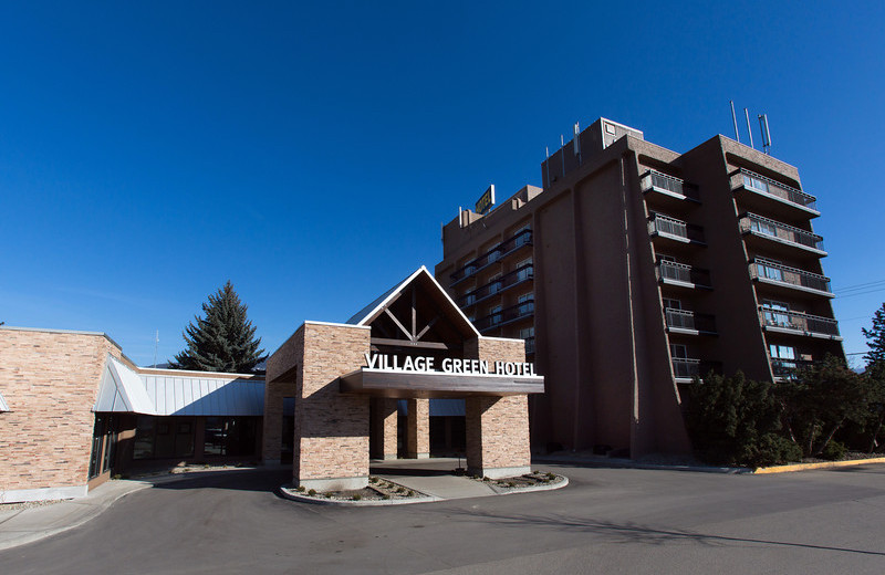
[[[263,459],[283,458],[292,397],[296,485],[361,489],[373,460],[431,456],[522,474],[528,394],[543,389],[522,339],[482,337],[421,268],[344,324],[305,322],[270,356]]]

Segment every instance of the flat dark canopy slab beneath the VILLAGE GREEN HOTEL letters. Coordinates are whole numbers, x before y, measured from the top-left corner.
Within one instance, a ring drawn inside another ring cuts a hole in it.
[[[543,394],[543,376],[396,372],[363,367],[341,377],[343,394],[378,397],[469,397]]]

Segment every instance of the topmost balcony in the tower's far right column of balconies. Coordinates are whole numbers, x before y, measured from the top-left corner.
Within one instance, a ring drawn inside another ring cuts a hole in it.
[[[750,209],[789,218],[816,218],[821,215],[814,196],[753,171],[736,171],[731,188],[740,202]]]

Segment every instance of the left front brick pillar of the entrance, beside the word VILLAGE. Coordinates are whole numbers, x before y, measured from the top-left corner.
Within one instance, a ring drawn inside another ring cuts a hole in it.
[[[366,327],[304,324],[295,399],[295,483],[317,490],[368,484],[368,397],[346,396],[339,377],[360,369],[369,352]],[[300,439],[299,439],[300,438]]]

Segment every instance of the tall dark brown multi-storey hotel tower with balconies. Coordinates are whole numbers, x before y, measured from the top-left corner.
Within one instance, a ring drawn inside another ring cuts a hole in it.
[[[723,136],[677,154],[604,118],[486,215],[442,228],[436,278],[545,377],[538,449],[690,450],[680,393],[710,369],[781,380],[844,358],[815,197]]]

